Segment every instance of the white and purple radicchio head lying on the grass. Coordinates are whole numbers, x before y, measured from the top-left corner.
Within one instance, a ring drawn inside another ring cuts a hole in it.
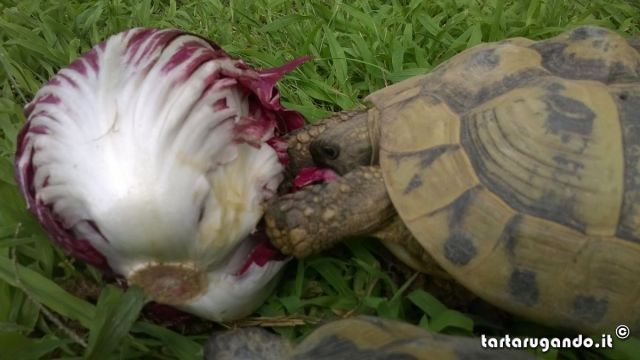
[[[60,70],[25,107],[16,174],[73,256],[216,321],[250,314],[284,260],[255,233],[301,116],[276,81],[179,30],[132,29]]]

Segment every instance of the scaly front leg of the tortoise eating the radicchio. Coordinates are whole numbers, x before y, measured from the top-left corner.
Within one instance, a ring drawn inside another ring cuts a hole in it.
[[[362,166],[329,183],[281,196],[265,213],[267,234],[284,254],[301,258],[346,237],[373,234],[396,215],[378,166]]]

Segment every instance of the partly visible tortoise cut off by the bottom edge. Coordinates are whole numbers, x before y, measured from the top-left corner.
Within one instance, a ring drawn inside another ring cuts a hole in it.
[[[397,320],[358,316],[328,322],[295,345],[264,328],[214,333],[210,360],[535,359],[531,353],[483,348],[479,338],[436,334]]]

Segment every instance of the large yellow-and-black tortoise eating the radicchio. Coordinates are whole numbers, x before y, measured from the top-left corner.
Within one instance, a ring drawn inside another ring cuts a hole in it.
[[[480,44],[292,134],[294,167],[340,177],[270,203],[271,241],[374,234],[535,322],[637,328],[639,51],[594,26]]]

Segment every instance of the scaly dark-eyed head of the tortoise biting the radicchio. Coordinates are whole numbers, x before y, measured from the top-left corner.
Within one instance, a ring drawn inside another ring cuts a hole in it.
[[[377,130],[370,128],[366,111],[332,124],[309,145],[314,163],[340,175],[360,165],[374,165],[378,134],[372,134],[373,131]]]

